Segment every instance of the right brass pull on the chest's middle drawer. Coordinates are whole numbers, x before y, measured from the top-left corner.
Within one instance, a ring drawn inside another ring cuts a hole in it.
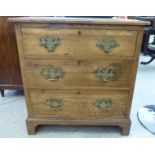
[[[102,82],[116,80],[118,71],[113,69],[97,69],[96,76],[101,79]]]

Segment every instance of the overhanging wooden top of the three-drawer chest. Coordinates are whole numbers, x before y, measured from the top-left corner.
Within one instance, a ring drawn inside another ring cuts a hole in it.
[[[101,19],[101,18],[68,18],[68,17],[17,17],[9,18],[14,23],[71,23],[97,25],[150,25],[148,21],[131,19]]]

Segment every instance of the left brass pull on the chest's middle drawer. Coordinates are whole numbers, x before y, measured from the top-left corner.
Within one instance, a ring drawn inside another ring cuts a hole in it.
[[[63,73],[61,69],[55,69],[49,67],[42,69],[41,75],[49,81],[57,81],[62,77]]]

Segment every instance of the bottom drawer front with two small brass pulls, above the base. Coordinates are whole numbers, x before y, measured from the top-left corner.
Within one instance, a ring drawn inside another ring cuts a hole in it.
[[[31,90],[33,117],[125,118],[124,91]]]

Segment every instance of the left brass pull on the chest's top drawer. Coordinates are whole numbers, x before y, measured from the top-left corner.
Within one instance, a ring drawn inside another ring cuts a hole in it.
[[[40,46],[47,49],[47,51],[54,52],[58,46],[61,45],[61,41],[59,38],[53,38],[53,37],[43,37],[40,38]]]

